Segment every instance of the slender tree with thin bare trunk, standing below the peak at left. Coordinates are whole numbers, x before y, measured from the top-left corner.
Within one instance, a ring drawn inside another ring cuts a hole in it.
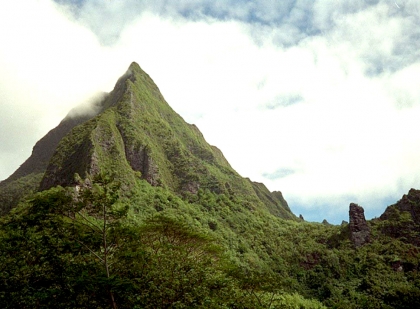
[[[106,278],[111,278],[111,266],[122,239],[118,230],[128,206],[119,201],[120,184],[106,174],[99,174],[93,181],[87,179],[75,188],[72,202],[61,210],[74,224],[74,240],[86,248],[102,265]],[[100,239],[98,244],[97,239]],[[117,308],[114,292],[108,287],[112,307]]]

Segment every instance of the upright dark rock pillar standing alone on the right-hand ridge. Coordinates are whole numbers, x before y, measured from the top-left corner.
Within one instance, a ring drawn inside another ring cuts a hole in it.
[[[370,228],[365,219],[365,210],[363,207],[350,204],[350,239],[353,245],[358,248],[370,242]]]

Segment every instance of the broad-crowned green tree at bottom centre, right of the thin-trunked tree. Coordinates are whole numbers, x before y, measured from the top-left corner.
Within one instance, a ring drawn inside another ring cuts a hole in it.
[[[221,248],[209,235],[164,215],[139,230],[144,265],[138,293],[145,308],[210,308],[229,290]],[[216,306],[217,307],[217,306]]]

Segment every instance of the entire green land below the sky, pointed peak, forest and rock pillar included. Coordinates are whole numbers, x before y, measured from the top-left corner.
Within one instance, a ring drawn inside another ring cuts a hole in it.
[[[418,308],[419,191],[304,222],[136,64],[0,183],[3,308]]]

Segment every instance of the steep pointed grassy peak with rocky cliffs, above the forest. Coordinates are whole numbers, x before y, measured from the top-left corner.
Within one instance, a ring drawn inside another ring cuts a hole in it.
[[[294,218],[283,199],[238,175],[195,125],[175,113],[138,64],[131,64],[103,104],[104,112],[59,143],[41,189],[73,185],[75,173],[112,171],[127,187],[140,177],[184,198],[199,190],[237,195],[255,208]]]

